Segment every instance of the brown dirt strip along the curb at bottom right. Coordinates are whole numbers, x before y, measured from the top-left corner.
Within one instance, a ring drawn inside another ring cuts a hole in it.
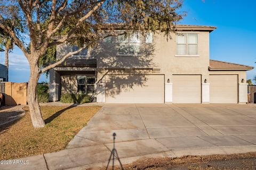
[[[137,160],[123,167],[129,170],[256,169],[256,152],[232,155],[186,156],[181,158],[148,158]],[[102,169],[106,169],[106,167]],[[115,169],[121,168],[115,167]]]

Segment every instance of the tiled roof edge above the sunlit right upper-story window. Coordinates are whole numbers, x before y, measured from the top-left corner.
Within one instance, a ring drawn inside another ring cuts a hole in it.
[[[206,26],[206,25],[176,25],[178,31],[209,31],[212,32],[213,30],[217,29],[214,26]]]

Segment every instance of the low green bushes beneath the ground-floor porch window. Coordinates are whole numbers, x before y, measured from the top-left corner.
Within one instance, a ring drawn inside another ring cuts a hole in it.
[[[90,96],[85,94],[61,94],[60,101],[74,104],[89,103]]]

